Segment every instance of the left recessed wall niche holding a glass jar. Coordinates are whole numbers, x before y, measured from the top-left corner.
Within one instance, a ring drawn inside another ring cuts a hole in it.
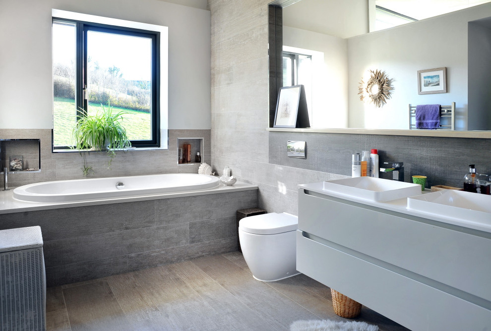
[[[0,173],[41,172],[40,139],[0,139]]]

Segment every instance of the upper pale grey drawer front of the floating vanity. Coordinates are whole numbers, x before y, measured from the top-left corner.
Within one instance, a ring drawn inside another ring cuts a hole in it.
[[[451,293],[467,292],[491,305],[489,233],[466,232],[327,195],[313,196],[303,189],[299,229],[361,252],[374,263],[391,264],[447,285]]]

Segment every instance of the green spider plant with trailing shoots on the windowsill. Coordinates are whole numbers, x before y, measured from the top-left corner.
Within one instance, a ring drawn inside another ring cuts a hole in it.
[[[98,110],[95,115],[89,115],[84,111],[84,116],[77,120],[72,130],[72,141],[74,148],[83,156],[84,176],[93,171],[92,167],[87,165],[82,151],[107,151],[110,158],[109,169],[116,151],[131,146],[121,123],[124,114],[126,114],[124,111],[114,113],[109,102],[107,108],[101,104],[101,110]]]

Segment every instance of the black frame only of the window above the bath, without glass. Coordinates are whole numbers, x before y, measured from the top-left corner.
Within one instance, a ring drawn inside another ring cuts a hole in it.
[[[160,31],[137,29],[125,26],[95,23],[83,20],[75,20],[62,17],[52,17],[54,23],[69,23],[75,25],[75,111],[77,120],[88,112],[88,98],[86,98],[86,88],[88,84],[88,57],[87,57],[87,32],[98,31],[128,36],[138,36],[150,38],[152,40],[152,82],[151,82],[151,139],[149,140],[130,140],[132,147],[160,148]],[[53,64],[52,64],[53,65]],[[83,109],[83,110],[80,110]],[[53,151],[71,149],[73,146],[55,146],[53,133]]]

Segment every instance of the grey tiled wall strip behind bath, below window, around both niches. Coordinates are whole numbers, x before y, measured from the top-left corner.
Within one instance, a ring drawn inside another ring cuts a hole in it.
[[[204,138],[204,162],[210,163],[210,130],[169,130],[169,148],[167,150],[118,152],[110,169],[107,166],[109,158],[106,153],[86,153],[87,163],[92,165],[94,169],[94,173],[87,178],[178,172],[197,173],[199,165],[178,165],[178,137]],[[83,159],[78,152],[52,153],[51,129],[0,129],[0,139],[41,139],[41,172],[9,174],[9,187],[41,181],[84,178],[82,174]],[[37,155],[37,147],[35,149],[34,152]],[[21,155],[30,156],[33,154],[31,150],[17,152]],[[3,185],[3,176],[0,176],[0,185]]]

